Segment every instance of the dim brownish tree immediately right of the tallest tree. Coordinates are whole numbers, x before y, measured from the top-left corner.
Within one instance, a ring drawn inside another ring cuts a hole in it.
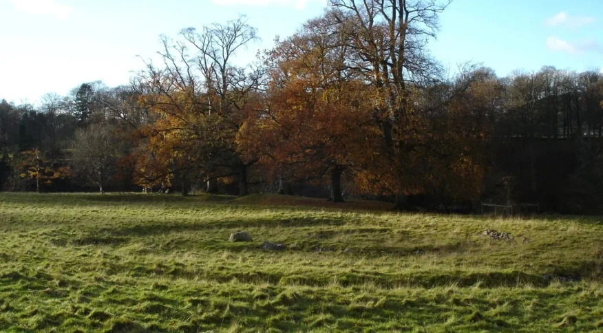
[[[428,193],[476,200],[490,164],[488,148],[504,87],[491,69],[468,65],[432,89],[438,97],[426,94],[416,106],[428,125],[423,147]]]

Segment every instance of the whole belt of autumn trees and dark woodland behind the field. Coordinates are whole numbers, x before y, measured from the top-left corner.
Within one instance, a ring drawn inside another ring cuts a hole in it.
[[[603,213],[603,74],[450,71],[429,52],[448,3],[401,3],[331,0],[246,66],[245,17],[187,28],[128,85],[1,100],[1,189]]]

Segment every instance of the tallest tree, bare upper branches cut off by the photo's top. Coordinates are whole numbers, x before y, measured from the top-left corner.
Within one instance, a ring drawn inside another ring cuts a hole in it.
[[[426,161],[441,160],[427,149],[432,120],[416,106],[421,91],[441,80],[441,67],[427,47],[436,36],[438,14],[451,2],[330,0],[331,19],[352,50],[350,69],[372,90],[372,119],[383,137],[373,152],[379,162],[363,173],[361,184],[396,194],[396,208],[407,208],[407,195],[425,191],[436,179],[425,172]],[[465,161],[456,156],[457,169],[463,170]]]

